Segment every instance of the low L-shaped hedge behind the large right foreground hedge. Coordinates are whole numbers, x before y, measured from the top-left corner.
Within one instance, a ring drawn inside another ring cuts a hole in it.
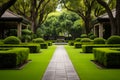
[[[82,51],[83,53],[92,53],[93,48],[102,48],[102,47],[120,47],[120,44],[113,44],[113,45],[107,45],[107,44],[95,44],[95,45],[82,45]]]

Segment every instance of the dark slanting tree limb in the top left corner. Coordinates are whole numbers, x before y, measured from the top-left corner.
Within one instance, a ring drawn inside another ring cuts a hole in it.
[[[0,17],[2,14],[11,7],[17,0],[7,0],[7,1],[0,1]]]

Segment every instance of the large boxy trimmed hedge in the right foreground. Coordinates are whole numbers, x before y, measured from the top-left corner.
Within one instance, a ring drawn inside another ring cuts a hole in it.
[[[95,48],[94,59],[107,68],[120,68],[120,48]]]

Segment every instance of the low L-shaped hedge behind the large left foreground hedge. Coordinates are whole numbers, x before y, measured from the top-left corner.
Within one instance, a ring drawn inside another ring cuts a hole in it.
[[[3,45],[0,45],[0,48],[11,48],[11,47],[27,47],[30,49],[30,53],[40,52],[39,44],[20,44],[20,45],[3,44]]]

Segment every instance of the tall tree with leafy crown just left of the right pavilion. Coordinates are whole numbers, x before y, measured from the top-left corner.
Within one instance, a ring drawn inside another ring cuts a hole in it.
[[[86,34],[90,32],[91,12],[94,7],[95,0],[62,0],[65,8],[76,12],[84,21]]]

